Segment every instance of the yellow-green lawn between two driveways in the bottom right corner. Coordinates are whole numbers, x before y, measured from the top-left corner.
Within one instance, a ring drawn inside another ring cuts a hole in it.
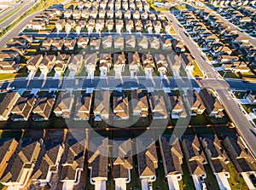
[[[232,190],[247,190],[247,184],[246,182],[243,180],[243,178],[239,175],[239,173],[237,172],[235,165],[230,162],[229,164],[227,164],[229,170],[230,170],[230,178],[228,179],[230,182],[230,187]]]

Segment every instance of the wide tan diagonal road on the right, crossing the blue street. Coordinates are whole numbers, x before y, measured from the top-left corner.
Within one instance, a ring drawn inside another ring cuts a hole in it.
[[[254,143],[255,136],[253,135],[253,132],[256,130],[253,125],[247,120],[243,112],[241,112],[240,108],[236,105],[235,100],[230,95],[230,92],[228,90],[229,83],[226,83],[224,80],[219,78],[218,73],[216,73],[212,66],[207,62],[207,58],[201,54],[198,45],[195,44],[193,39],[184,34],[183,31],[185,29],[183,29],[183,27],[178,26],[180,24],[175,16],[170,12],[165,13],[167,18],[169,20],[172,20],[173,27],[178,32],[177,37],[180,37],[189,48],[190,53],[195,57],[195,60],[197,60],[197,62],[201,66],[206,77],[208,79],[215,80],[215,82],[212,81],[212,83],[207,83],[207,85],[210,84],[210,88],[215,89],[218,98],[224,104],[225,111],[230,116],[231,121],[236,125],[237,132],[246,141],[247,147],[249,147],[253,155],[256,156],[256,143]],[[201,83],[201,87],[205,87],[205,82],[203,81]]]

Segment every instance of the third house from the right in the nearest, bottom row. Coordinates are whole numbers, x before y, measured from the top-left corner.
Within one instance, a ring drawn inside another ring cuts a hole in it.
[[[207,172],[204,164],[207,164],[207,158],[201,148],[196,135],[183,135],[181,139],[183,153],[189,166],[189,174],[192,176],[196,189],[202,189],[206,184],[204,179]]]

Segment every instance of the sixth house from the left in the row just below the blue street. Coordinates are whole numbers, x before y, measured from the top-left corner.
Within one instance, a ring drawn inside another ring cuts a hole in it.
[[[94,116],[96,121],[109,118],[110,94],[108,90],[96,90],[94,98]]]

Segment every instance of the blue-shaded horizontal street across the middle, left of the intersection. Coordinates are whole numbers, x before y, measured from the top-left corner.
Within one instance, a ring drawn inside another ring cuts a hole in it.
[[[0,83],[0,89],[86,89],[86,88],[199,88],[194,79],[188,78],[94,78],[94,79],[32,79]]]

